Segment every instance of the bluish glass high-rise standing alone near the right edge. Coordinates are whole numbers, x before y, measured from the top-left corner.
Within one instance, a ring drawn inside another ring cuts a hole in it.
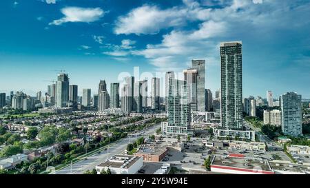
[[[302,96],[287,92],[280,97],[282,132],[290,136],[302,135]]]

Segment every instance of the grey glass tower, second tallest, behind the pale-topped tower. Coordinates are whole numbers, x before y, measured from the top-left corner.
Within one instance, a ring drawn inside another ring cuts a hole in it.
[[[205,60],[192,60],[197,70],[197,110],[205,112]]]

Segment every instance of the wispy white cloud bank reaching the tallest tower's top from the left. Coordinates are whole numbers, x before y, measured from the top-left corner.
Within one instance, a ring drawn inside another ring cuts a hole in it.
[[[144,56],[158,71],[180,70],[191,59],[215,59],[216,46],[212,37],[222,36],[225,23],[205,21],[198,30],[176,31],[163,36],[161,43],[147,45],[144,50],[132,50],[132,54]]]

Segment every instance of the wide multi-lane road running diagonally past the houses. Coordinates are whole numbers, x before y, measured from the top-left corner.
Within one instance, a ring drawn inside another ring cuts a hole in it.
[[[85,171],[92,170],[96,167],[96,165],[105,162],[107,158],[125,152],[127,144],[136,141],[139,134],[147,138],[147,136],[149,136],[150,134],[154,134],[156,132],[156,129],[158,129],[160,126],[161,124],[157,124],[152,127],[148,127],[141,132],[137,132],[135,134],[136,136],[128,136],[127,138],[122,138],[116,143],[112,143],[110,147],[107,148],[107,150],[102,149],[100,153],[97,152],[92,156],[84,157],[78,162],[73,163],[72,165],[68,165],[63,169],[52,172],[52,174],[83,174]]]

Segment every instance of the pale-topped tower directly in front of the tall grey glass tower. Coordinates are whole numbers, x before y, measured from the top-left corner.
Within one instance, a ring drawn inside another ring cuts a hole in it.
[[[198,72],[195,69],[183,70],[184,80],[188,85],[189,103],[192,111],[198,110],[197,104],[197,76]],[[205,97],[205,96],[204,96]]]

